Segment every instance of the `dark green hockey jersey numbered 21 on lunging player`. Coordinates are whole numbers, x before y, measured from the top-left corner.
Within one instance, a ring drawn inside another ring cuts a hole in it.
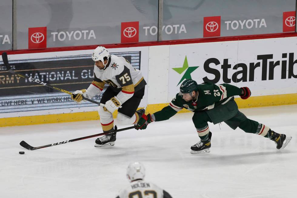
[[[234,99],[233,96],[241,95],[242,90],[229,84],[215,85],[211,82],[205,82],[198,85],[198,93],[197,99],[189,102],[182,99],[180,93],[176,94],[168,106],[154,113],[155,121],[169,119],[184,108],[192,112],[213,109]]]

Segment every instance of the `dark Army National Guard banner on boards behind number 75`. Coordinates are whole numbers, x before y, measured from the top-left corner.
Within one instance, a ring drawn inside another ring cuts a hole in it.
[[[87,53],[72,51],[68,54],[74,55],[64,56],[61,56],[63,52],[55,52],[55,54],[60,54],[59,56],[54,56],[53,52],[48,52],[48,57],[19,58],[9,60],[9,62],[13,70],[60,89],[73,92],[75,90],[87,89],[94,78],[94,61],[91,58],[92,50],[86,51]],[[144,61],[141,64],[142,51],[139,49],[138,51],[132,51],[130,49],[128,51],[111,52],[111,54],[123,56],[135,69],[144,70],[142,74],[147,79],[147,63]],[[18,57],[17,55],[15,56]],[[26,55],[19,55],[19,57],[21,56],[26,57]],[[63,113],[65,109],[72,108],[76,109],[72,112],[89,111],[84,109],[84,107],[94,107],[95,109],[93,108],[93,110],[97,110],[97,105],[94,103],[82,102],[77,104],[72,101],[70,95],[6,72],[5,66],[2,66],[0,69],[0,117],[6,113],[13,115],[16,112],[18,112],[17,115],[26,115],[26,112],[32,115],[32,112],[35,111],[43,111],[46,114],[51,114],[51,112]],[[105,84],[105,89],[107,86]],[[92,99],[100,102],[105,89]],[[146,106],[146,103],[146,97],[144,97],[141,105]],[[57,111],[58,109],[60,110]]]

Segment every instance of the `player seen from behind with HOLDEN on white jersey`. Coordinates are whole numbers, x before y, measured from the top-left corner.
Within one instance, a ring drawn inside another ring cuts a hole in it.
[[[139,163],[131,163],[127,168],[127,178],[131,182],[130,185],[121,190],[116,198],[126,197],[154,197],[154,198],[172,198],[169,193],[162,190],[155,184],[143,180],[145,176],[145,168]]]

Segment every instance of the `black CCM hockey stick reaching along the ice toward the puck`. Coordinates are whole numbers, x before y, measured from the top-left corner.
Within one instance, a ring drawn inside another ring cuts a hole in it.
[[[135,126],[130,126],[130,127],[126,127],[126,128],[123,128],[123,129],[118,129],[117,126],[115,125],[115,129],[112,130],[112,131],[109,131],[109,132],[98,133],[98,134],[91,135],[91,136],[85,136],[85,137],[80,137],[80,138],[76,138],[76,139],[65,140],[63,142],[57,142],[57,143],[48,144],[48,145],[44,145],[44,146],[33,147],[33,146],[30,146],[25,141],[20,142],[20,145],[22,147],[24,147],[25,149],[28,149],[28,150],[36,150],[36,149],[42,149],[42,148],[46,148],[46,147],[50,147],[50,146],[56,146],[56,145],[60,145],[60,144],[65,144],[65,143],[68,143],[68,142],[75,142],[75,141],[82,140],[82,139],[88,139],[88,138],[92,138],[92,137],[96,137],[96,136],[113,134],[113,133],[117,133],[117,132],[120,132],[120,131],[125,131],[125,130],[128,130],[128,129],[135,129]]]

